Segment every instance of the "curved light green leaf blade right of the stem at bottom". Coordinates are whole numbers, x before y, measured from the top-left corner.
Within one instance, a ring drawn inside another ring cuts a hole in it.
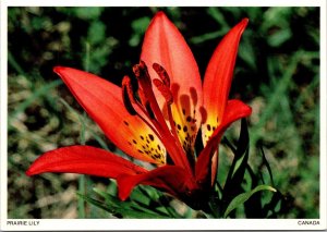
[[[231,203],[228,205],[223,218],[226,218],[232,210],[234,210],[237,207],[239,207],[241,204],[244,204],[253,194],[259,192],[259,191],[271,191],[277,192],[274,187],[269,185],[258,185],[254,190],[247,193],[242,193],[238,195],[235,198],[231,200]]]

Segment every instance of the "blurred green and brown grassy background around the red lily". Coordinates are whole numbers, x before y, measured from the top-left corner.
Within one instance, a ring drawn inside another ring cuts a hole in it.
[[[230,94],[253,108],[250,163],[265,169],[262,147],[288,203],[279,218],[318,218],[319,8],[155,7],[9,8],[9,218],[109,217],[78,200],[78,175],[24,172],[40,154],[81,144],[81,131],[86,144],[116,150],[52,68],[87,70],[120,84],[138,62],[144,32],[158,10],[179,27],[202,75],[221,37],[250,19]],[[238,126],[227,135],[233,130]],[[221,149],[220,166],[228,167],[228,151]],[[93,186],[109,183],[86,176],[82,190],[90,194]]]

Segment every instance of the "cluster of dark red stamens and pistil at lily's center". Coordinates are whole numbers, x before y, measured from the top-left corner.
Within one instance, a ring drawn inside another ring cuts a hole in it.
[[[185,157],[184,149],[180,143],[177,125],[172,117],[171,105],[173,102],[173,96],[170,90],[170,78],[166,70],[159,64],[155,63],[153,69],[156,71],[159,78],[154,78],[152,82],[147,66],[143,61],[133,66],[133,72],[138,84],[136,90],[134,90],[130,77],[124,76],[122,81],[123,102],[131,115],[140,117],[153,130],[154,134],[165,145],[168,155],[174,164],[184,167],[186,170],[192,172],[187,158]],[[165,113],[168,115],[169,126],[166,123],[164,113],[158,106],[153,91],[153,84],[166,100]],[[134,143],[134,145],[136,144]],[[152,149],[145,149],[143,146],[142,148],[143,149],[140,149],[141,151],[149,151],[150,156],[156,160],[156,156],[153,154]]]

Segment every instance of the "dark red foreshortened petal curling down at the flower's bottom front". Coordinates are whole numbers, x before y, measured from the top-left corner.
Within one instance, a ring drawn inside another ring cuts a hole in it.
[[[187,190],[195,187],[192,176],[184,169],[177,166],[164,166],[144,174],[121,175],[118,176],[117,183],[119,197],[122,200],[125,200],[132,190],[138,184],[152,185],[165,190],[178,198],[185,194]]]

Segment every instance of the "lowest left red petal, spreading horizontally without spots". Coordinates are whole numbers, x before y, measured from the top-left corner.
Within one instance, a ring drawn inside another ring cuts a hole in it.
[[[71,172],[114,179],[120,174],[144,173],[146,170],[104,149],[71,146],[44,154],[34,161],[26,174],[44,172]]]

